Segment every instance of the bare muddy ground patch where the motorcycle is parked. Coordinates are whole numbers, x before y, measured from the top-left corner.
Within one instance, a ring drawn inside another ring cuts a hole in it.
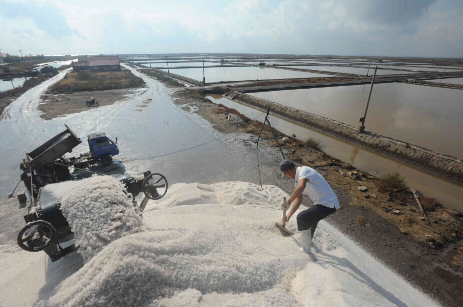
[[[41,118],[50,120],[56,117],[80,113],[89,109],[99,108],[107,105],[112,105],[116,102],[123,102],[133,95],[136,95],[140,89],[119,89],[105,90],[94,92],[77,92],[72,94],[46,94],[40,97],[38,110],[42,112]],[[96,97],[99,106],[87,107],[86,101],[90,97]]]

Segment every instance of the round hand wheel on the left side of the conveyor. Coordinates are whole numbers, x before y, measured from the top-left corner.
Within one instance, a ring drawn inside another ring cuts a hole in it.
[[[27,230],[31,231],[27,232]],[[25,237],[22,237],[26,233]],[[33,221],[17,234],[17,245],[28,252],[39,252],[49,246],[56,238],[56,229],[43,220]],[[25,245],[24,243],[27,243]]]

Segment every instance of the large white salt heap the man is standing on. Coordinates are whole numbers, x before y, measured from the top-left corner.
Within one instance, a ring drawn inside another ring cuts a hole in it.
[[[174,184],[148,203],[150,230],[110,243],[36,305],[439,306],[323,221],[314,254],[301,253],[300,236],[273,224],[284,196],[246,182]],[[287,227],[297,232],[295,218]]]

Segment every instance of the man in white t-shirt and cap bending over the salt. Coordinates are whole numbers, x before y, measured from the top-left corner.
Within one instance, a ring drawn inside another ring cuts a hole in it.
[[[318,222],[339,209],[338,197],[325,178],[309,166],[296,167],[293,162],[286,159],[280,162],[280,170],[284,175],[296,180],[296,188],[287,200],[287,205],[293,204],[293,206],[286,215],[286,220],[282,219],[284,223],[287,223],[299,208],[303,194],[309,195],[314,202],[312,208],[300,212],[296,218],[297,229],[301,233],[301,251],[310,254],[312,238]]]

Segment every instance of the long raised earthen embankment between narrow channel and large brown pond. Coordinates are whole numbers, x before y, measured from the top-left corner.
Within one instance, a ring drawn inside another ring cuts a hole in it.
[[[230,91],[224,96],[262,111],[270,107],[273,115],[463,185],[463,161],[456,157],[370,131],[361,134],[356,127],[237,91]]]

